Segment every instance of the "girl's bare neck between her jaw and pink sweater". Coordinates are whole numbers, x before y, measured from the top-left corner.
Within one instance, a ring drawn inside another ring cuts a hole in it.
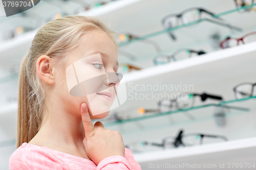
[[[82,143],[84,130],[81,117],[58,106],[51,107],[51,111],[43,115],[48,116],[44,116],[39,132],[29,143],[91,160]]]

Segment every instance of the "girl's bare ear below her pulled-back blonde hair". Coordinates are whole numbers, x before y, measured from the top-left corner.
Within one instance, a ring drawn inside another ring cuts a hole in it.
[[[36,61],[36,72],[40,79],[48,84],[53,84],[55,74],[53,71],[53,61],[46,55],[40,56]]]

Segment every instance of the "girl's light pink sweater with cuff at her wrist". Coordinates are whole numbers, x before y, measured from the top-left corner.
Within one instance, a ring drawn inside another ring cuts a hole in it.
[[[124,157],[111,156],[101,160],[96,165],[88,159],[24,142],[9,158],[9,170],[16,169],[141,170],[141,167],[134,160],[133,154],[128,148],[125,148]]]

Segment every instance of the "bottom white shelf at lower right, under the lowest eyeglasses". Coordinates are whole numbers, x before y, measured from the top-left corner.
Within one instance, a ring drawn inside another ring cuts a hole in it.
[[[152,163],[177,163],[177,162],[193,162],[195,163],[205,163],[206,160],[211,160],[211,162],[216,162],[215,160],[221,161],[219,163],[231,162],[238,159],[246,157],[247,163],[251,160],[254,162],[254,152],[256,151],[256,137],[230,140],[218,143],[209,143],[191,147],[175,148],[172,150],[163,150],[158,152],[148,152],[141,154],[133,154],[136,161],[138,161],[141,166],[148,166],[149,162]],[[245,156],[246,155],[246,156]],[[227,165],[227,164],[226,164]],[[226,166],[227,167],[227,166]],[[245,169],[245,168],[244,168]]]

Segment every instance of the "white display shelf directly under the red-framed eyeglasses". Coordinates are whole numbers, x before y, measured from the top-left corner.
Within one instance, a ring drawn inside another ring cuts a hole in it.
[[[194,58],[135,70],[125,74],[123,80],[125,83],[148,84],[174,78],[172,80],[175,84],[175,79],[182,76],[182,79],[187,81],[193,78],[193,83],[215,81],[256,72],[255,55],[256,42],[251,42]]]

